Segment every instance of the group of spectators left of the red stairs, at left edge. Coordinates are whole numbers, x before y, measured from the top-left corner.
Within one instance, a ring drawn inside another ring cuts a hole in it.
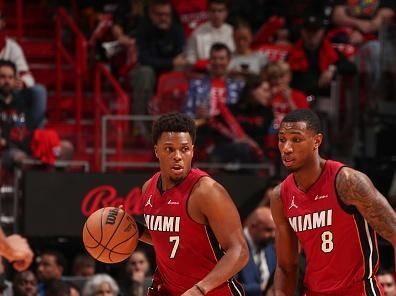
[[[7,36],[0,12],[1,182],[13,182],[13,168],[27,159],[52,166],[73,158],[73,144],[46,129],[47,90],[35,82],[22,47]],[[10,179],[10,180],[8,180]]]

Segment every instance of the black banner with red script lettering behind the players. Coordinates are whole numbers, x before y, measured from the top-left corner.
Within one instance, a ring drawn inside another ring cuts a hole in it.
[[[151,173],[86,174],[28,171],[23,180],[23,218],[27,236],[77,237],[96,210],[123,204],[133,213],[141,186]],[[247,175],[216,175],[244,217],[261,199],[266,179]],[[23,221],[22,221],[23,220]]]

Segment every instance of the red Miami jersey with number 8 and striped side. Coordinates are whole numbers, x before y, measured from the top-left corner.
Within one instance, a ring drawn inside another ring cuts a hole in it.
[[[335,179],[343,166],[327,160],[307,192],[296,186],[293,174],[281,184],[285,216],[306,255],[306,295],[382,295],[375,277],[376,234],[336,193]]]

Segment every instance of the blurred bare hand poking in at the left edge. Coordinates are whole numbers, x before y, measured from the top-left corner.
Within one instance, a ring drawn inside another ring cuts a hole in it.
[[[4,257],[13,263],[17,271],[26,270],[33,260],[33,251],[30,249],[27,240],[18,234],[6,237],[10,251],[4,254]]]

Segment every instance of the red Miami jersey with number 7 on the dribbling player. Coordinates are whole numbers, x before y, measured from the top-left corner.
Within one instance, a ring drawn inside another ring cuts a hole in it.
[[[192,169],[183,182],[160,193],[155,174],[143,195],[143,214],[153,240],[160,295],[181,295],[203,279],[224,254],[209,226],[192,220],[187,203],[196,182],[207,173]],[[207,295],[244,295],[230,279]]]

